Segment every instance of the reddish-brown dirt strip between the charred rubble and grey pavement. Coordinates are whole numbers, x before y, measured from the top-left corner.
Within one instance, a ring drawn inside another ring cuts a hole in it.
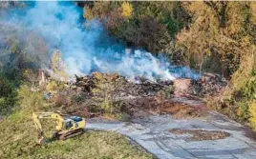
[[[159,99],[158,97],[140,97],[126,103],[126,111],[132,117],[150,114],[170,114],[174,118],[205,117],[207,108],[201,100],[183,98]]]

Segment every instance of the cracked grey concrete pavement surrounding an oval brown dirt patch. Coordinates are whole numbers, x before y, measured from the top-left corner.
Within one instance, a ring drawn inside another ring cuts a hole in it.
[[[256,142],[245,137],[245,128],[213,111],[207,119],[176,120],[170,115],[152,115],[132,122],[90,119],[86,128],[124,134],[160,159],[256,159]],[[220,140],[187,141],[169,129],[224,130],[231,135]]]

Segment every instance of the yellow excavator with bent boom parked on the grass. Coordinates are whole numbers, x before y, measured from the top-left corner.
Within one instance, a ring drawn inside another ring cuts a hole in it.
[[[53,119],[56,122],[53,138],[65,140],[67,138],[83,133],[85,127],[85,119],[78,116],[69,116],[60,112],[33,112],[32,119],[35,128],[38,131],[38,144],[44,145],[47,143],[44,130],[39,119]]]

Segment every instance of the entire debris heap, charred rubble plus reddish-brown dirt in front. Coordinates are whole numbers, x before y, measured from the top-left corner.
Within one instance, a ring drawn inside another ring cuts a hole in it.
[[[70,112],[83,112],[89,114],[88,116],[101,112],[95,107],[97,105],[95,97],[101,95],[96,94],[95,91],[99,83],[103,85],[103,89],[111,89],[111,92],[108,92],[111,94],[111,99],[113,102],[120,102],[121,111],[129,116],[168,113],[177,118],[205,116],[207,112],[205,103],[198,97],[217,94],[227,84],[219,74],[213,73],[204,73],[197,81],[188,78],[173,81],[137,78],[137,81],[130,81],[118,74],[95,72],[90,75],[75,76],[75,80],[67,84],[67,95],[74,93],[79,102],[75,110],[71,109]],[[72,93],[68,92],[70,90]]]

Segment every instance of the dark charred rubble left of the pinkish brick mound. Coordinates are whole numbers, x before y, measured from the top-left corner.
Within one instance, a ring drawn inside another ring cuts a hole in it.
[[[92,89],[96,88],[96,75],[99,72],[78,77],[75,75],[75,82],[69,83],[66,87],[92,93]],[[113,85],[118,85],[118,92],[121,96],[156,96],[157,93],[165,88],[170,87],[171,81],[154,82],[143,78],[138,78],[136,82],[131,82],[118,74],[105,74],[104,81],[108,81]]]

